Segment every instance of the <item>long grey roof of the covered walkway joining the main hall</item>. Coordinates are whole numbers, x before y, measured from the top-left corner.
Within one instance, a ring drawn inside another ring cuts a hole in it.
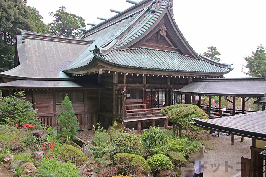
[[[175,92],[196,95],[265,97],[266,77],[206,78],[195,80]]]

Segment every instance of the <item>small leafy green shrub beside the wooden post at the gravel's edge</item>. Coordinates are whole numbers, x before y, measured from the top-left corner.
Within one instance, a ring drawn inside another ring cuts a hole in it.
[[[190,154],[194,154],[199,151],[202,143],[197,140],[188,139],[186,145],[182,148],[181,153],[184,155],[186,159],[189,158]]]

